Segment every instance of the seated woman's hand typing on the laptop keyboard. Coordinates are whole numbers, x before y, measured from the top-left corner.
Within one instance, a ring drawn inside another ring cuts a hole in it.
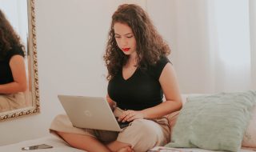
[[[119,122],[131,122],[134,119],[144,118],[142,111],[126,110],[118,117]]]

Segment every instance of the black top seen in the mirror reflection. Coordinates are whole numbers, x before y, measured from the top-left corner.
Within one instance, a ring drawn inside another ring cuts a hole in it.
[[[2,50],[0,50],[0,53],[1,51]],[[0,58],[0,84],[14,82],[13,74],[11,73],[9,63],[10,58],[17,54],[21,55],[23,58],[25,57],[25,54],[21,47],[13,46],[11,50],[8,50],[6,52],[4,58]]]

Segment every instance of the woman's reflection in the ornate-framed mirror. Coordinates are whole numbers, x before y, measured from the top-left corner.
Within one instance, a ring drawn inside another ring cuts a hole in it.
[[[26,106],[24,46],[0,10],[0,112]]]

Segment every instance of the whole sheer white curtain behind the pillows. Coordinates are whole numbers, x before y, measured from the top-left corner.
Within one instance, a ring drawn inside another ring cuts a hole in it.
[[[170,2],[171,60],[182,93],[255,89],[255,1]]]

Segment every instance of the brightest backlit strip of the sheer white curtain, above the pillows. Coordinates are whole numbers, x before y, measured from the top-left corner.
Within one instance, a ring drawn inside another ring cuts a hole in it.
[[[249,1],[209,1],[207,13],[214,89],[250,89]]]

